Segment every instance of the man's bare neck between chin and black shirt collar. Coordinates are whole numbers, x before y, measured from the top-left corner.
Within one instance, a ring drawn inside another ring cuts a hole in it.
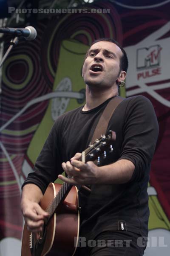
[[[91,89],[88,85],[86,85],[86,104],[85,107],[83,108],[83,111],[88,111],[93,108],[96,108],[97,106],[101,105],[103,102],[105,102],[107,99],[118,96],[118,88],[116,87],[111,87],[108,90],[102,90],[101,88],[99,89],[96,88],[96,90],[93,88]]]

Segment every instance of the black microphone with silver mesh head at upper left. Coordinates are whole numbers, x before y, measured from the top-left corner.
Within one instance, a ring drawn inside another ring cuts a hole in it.
[[[34,40],[37,36],[37,30],[32,26],[27,26],[25,29],[21,28],[0,28],[0,33],[7,33],[15,36],[23,36],[26,40]]]

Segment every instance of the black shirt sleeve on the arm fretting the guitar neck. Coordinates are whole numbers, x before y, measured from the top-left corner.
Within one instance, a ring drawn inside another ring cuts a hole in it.
[[[130,182],[141,180],[145,172],[149,172],[159,134],[158,121],[149,99],[137,96],[130,100],[125,114],[123,134],[119,160],[127,159],[135,165]]]

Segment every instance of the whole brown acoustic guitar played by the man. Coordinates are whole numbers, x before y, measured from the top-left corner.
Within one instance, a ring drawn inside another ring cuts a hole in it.
[[[113,131],[108,131],[82,152],[81,161],[94,161],[99,156],[105,158],[105,150],[116,139]],[[70,177],[71,178],[71,177]],[[83,187],[83,186],[82,186]],[[85,187],[85,186],[84,186]],[[87,187],[86,187],[87,188]],[[73,256],[79,239],[79,203],[77,186],[68,183],[50,183],[40,201],[40,206],[49,213],[45,218],[39,239],[24,225],[21,256]]]

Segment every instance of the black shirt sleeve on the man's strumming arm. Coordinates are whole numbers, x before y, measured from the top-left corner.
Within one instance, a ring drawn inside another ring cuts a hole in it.
[[[23,186],[28,183],[33,183],[39,186],[44,194],[48,184],[54,182],[54,180],[57,179],[58,174],[63,172],[59,151],[60,144],[59,125],[56,121],[45,141],[39,157],[37,158],[34,165],[34,172],[28,174]]]

